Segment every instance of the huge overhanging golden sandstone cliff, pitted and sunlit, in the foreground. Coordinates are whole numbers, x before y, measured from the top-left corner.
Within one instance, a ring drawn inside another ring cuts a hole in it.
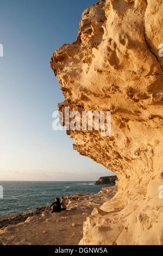
[[[95,208],[80,245],[163,245],[163,2],[101,0],[77,40],[53,53],[70,111],[111,111],[111,135],[67,131],[73,149],[110,169],[118,192]]]

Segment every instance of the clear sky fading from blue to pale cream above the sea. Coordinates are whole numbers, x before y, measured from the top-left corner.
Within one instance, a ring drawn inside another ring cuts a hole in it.
[[[76,40],[93,0],[1,0],[0,180],[96,180],[108,169],[72,149],[65,131],[52,130],[64,101],[49,67],[52,53]]]

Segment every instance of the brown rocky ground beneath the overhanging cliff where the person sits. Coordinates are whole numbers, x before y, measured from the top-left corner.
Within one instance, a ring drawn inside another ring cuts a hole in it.
[[[41,207],[0,217],[0,245],[78,245],[86,217],[116,192],[117,187],[105,187],[97,194],[67,196],[67,210],[59,213]]]

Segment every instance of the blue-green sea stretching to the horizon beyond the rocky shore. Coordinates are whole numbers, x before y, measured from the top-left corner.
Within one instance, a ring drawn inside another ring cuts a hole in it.
[[[109,185],[95,185],[95,181],[0,181],[0,216],[51,205],[56,197],[98,193],[103,187]]]

